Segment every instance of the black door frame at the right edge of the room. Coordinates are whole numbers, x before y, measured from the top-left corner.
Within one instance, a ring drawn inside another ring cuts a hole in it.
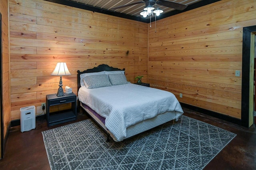
[[[250,116],[252,116],[250,106],[250,61],[252,57],[251,45],[252,36],[256,32],[256,26],[244,27],[243,28],[243,45],[242,45],[242,102],[241,102],[241,123],[244,127],[250,127]],[[253,56],[254,57],[254,56]],[[252,92],[253,93],[253,92]],[[253,110],[253,109],[252,109]],[[252,117],[253,119],[253,117]]]

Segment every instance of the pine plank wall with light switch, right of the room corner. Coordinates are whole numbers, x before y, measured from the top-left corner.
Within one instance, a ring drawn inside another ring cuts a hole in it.
[[[256,25],[255,2],[222,0],[157,21],[157,32],[149,30],[150,85],[241,119],[242,29]]]

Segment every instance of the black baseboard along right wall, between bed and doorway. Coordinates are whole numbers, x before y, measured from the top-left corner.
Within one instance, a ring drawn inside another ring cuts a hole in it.
[[[200,107],[196,107],[196,106],[192,106],[192,105],[188,105],[186,103],[180,103],[180,105],[182,107],[185,107],[187,109],[190,109],[192,111],[196,111],[196,112],[200,112],[200,113],[203,113],[205,115],[209,115],[209,116],[212,116],[212,117],[216,117],[218,119],[222,119],[224,121],[228,121],[228,122],[231,122],[231,123],[235,123],[237,125],[242,125],[242,121],[241,119],[236,119],[234,117],[230,117],[230,116],[227,116],[227,115],[223,115],[223,114],[220,114],[220,113],[217,113],[217,112],[214,112],[214,111],[209,111],[207,109],[202,109]]]

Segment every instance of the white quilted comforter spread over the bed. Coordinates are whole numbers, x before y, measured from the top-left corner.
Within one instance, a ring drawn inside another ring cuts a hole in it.
[[[126,137],[126,128],[159,114],[178,111],[183,113],[174,94],[160,89],[128,83],[96,89],[81,87],[79,100],[102,117],[105,126],[118,141]]]

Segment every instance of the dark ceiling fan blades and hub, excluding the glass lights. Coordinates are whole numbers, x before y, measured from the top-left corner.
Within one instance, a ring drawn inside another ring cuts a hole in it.
[[[136,4],[142,4],[142,3],[146,3],[146,8],[152,7],[155,4],[158,4],[158,5],[161,5],[161,6],[166,6],[168,8],[173,8],[173,9],[176,9],[176,10],[184,10],[185,8],[187,8],[187,5],[180,4],[180,3],[177,3],[177,2],[167,1],[167,0],[143,0],[143,1],[140,1],[140,2],[134,2],[134,3],[131,3],[131,4],[117,6],[117,7],[112,8],[112,10],[116,10],[116,9],[119,9],[119,8],[124,8],[124,7],[127,7],[127,6],[132,6],[132,5],[136,5]],[[144,10],[145,10],[145,8],[144,8]]]

